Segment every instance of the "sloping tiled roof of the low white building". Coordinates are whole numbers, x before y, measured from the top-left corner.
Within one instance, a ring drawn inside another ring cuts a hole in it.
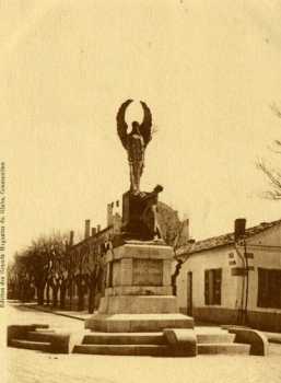
[[[262,231],[270,229],[277,224],[281,223],[281,220],[273,221],[273,222],[262,222],[256,227],[246,229],[245,236],[249,237],[256,234],[261,233]],[[208,240],[198,241],[195,243],[190,243],[188,245],[182,246],[176,251],[176,254],[185,255],[185,254],[194,254],[203,252],[207,249],[211,249],[214,247],[221,247],[221,246],[227,246],[234,244],[234,233],[229,233],[224,235],[213,236]]]

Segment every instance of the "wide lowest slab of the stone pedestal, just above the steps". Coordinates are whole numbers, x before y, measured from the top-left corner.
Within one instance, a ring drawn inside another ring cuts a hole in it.
[[[85,321],[85,328],[103,333],[157,333],[165,328],[194,328],[194,318],[169,314],[95,314]]]

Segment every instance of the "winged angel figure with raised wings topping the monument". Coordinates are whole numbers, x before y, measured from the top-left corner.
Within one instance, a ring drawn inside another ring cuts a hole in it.
[[[130,103],[132,103],[132,100],[127,100],[121,104],[116,119],[118,136],[128,153],[130,166],[130,192],[137,196],[140,194],[140,177],[144,167],[144,151],[152,138],[152,115],[148,105],[141,101],[143,121],[141,124],[133,121],[131,124],[131,131],[128,134],[128,125],[125,120],[125,114]]]

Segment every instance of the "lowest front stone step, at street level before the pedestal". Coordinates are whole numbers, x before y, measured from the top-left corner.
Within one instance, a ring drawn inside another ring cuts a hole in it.
[[[150,356],[164,357],[168,347],[164,345],[78,345],[75,353],[116,355],[116,356]]]

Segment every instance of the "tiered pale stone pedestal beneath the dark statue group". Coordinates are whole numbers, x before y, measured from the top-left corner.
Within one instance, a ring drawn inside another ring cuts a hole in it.
[[[99,332],[161,332],[192,328],[172,294],[173,249],[156,242],[128,241],[106,254],[107,280],[98,313],[85,327]]]

